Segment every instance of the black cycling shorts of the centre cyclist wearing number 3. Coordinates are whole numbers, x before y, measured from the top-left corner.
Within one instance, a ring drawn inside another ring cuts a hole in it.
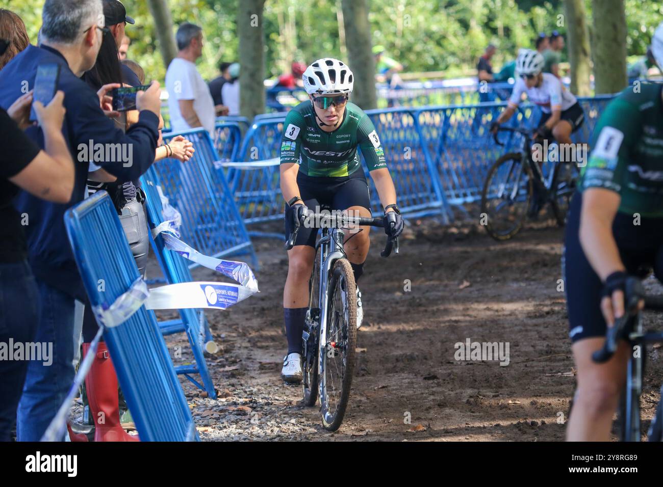
[[[339,178],[306,176],[303,172],[297,174],[299,197],[308,209],[320,212],[322,205],[329,206],[330,210],[344,210],[352,206],[361,206],[371,211],[371,198],[369,184],[362,168],[358,168],[349,176]],[[286,239],[294,230],[290,207],[286,205],[285,235]],[[315,247],[318,229],[300,226],[295,245],[308,245]]]

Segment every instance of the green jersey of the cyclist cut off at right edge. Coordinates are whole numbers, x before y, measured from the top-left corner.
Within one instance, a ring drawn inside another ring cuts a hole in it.
[[[619,213],[663,217],[663,85],[642,83],[609,103],[592,136],[579,190],[619,193]]]

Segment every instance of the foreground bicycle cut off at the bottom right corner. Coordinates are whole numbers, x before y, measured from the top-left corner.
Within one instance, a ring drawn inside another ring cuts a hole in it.
[[[638,301],[644,299],[645,309],[663,310],[663,296],[645,296],[644,288],[637,278],[627,280],[625,292],[625,308],[627,311],[615,325],[607,329],[603,349],[596,351],[592,359],[597,363],[610,360],[617,351],[620,340],[626,340],[633,350],[639,347],[638,353],[629,354],[627,382],[619,404],[617,425],[621,441],[640,441],[640,394],[642,394],[642,377],[646,345],[663,343],[663,332],[645,333],[642,327],[642,313],[638,311]],[[663,394],[663,387],[661,388]],[[656,407],[656,414],[647,433],[648,441],[663,441],[663,396]]]

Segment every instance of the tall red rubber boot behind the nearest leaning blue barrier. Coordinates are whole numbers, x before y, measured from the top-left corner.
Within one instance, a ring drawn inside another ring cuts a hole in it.
[[[89,349],[90,343],[84,343],[84,356]],[[117,375],[104,342],[99,342],[97,355],[85,379],[85,386],[90,413],[95,422],[94,441],[139,441],[137,436],[129,435],[120,425]]]

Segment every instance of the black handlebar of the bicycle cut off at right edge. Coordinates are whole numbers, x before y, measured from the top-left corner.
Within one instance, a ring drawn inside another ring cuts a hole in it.
[[[625,329],[629,319],[638,314],[638,302],[644,299],[645,309],[663,309],[663,296],[645,296],[644,288],[638,278],[629,277],[626,281],[624,293],[625,313],[615,320],[615,324],[609,327],[605,333],[605,343],[601,350],[595,351],[591,358],[598,364],[603,364],[617,351],[617,344],[620,339],[625,337]]]

